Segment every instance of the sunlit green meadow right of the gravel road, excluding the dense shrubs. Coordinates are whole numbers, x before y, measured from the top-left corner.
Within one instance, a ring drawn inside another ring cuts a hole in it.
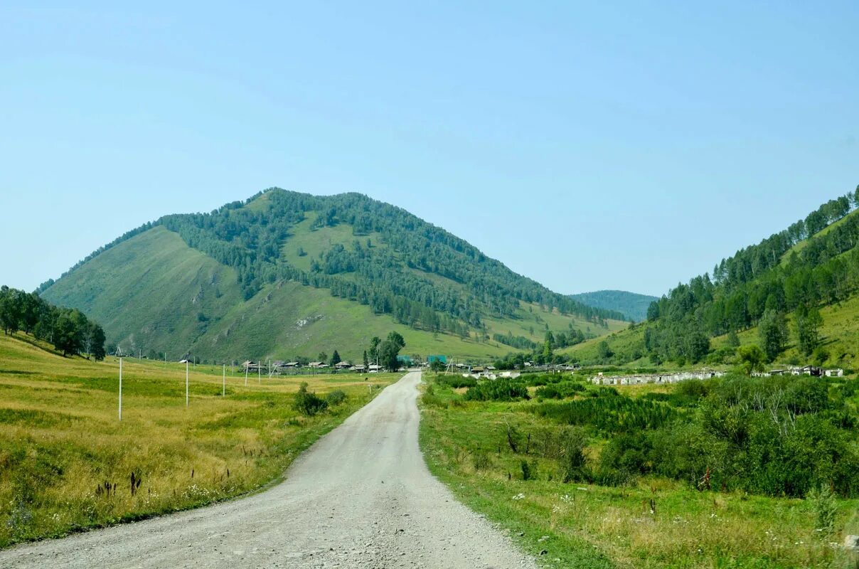
[[[587,465],[600,464],[612,439],[622,435],[594,433],[622,424],[589,423],[582,462],[570,465],[568,457],[576,449],[564,446],[563,435],[581,427],[536,410],[587,401],[591,391],[604,388],[582,382],[576,395],[550,400],[539,399],[538,393],[548,392],[532,384],[527,387],[530,401],[476,401],[473,396],[469,401],[469,388],[459,382],[425,379],[430,382],[422,396],[420,436],[430,470],[458,499],[508,529],[545,566],[855,566],[856,559],[838,544],[844,535],[859,533],[859,499],[752,493],[730,484],[720,487],[715,476],[707,489],[659,474],[619,480],[599,474]],[[565,383],[575,382],[568,379]],[[624,387],[620,395],[664,401],[676,389],[642,387]],[[636,414],[624,409],[616,419]],[[588,468],[594,474],[576,476],[576,469]]]

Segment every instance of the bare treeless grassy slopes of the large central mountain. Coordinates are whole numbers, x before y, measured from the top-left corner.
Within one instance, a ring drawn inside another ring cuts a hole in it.
[[[283,246],[287,259],[298,266],[309,267],[310,260],[334,244],[351,248],[356,239],[348,225],[311,230],[310,223],[308,217],[296,225]],[[375,247],[386,246],[379,236],[360,237],[364,242],[367,238]],[[299,257],[299,247],[308,254]],[[338,350],[342,357],[356,360],[362,358],[370,338],[384,337],[391,330],[403,334],[408,354],[480,360],[513,351],[494,341],[414,330],[367,306],[332,297],[326,289],[294,282],[270,284],[245,301],[235,271],[160,226],[98,255],[60,279],[44,297],[82,309],[101,322],[108,340],[142,348],[144,353],[168,352],[172,359],[189,352],[210,361],[315,358],[319,352],[330,355]],[[486,319],[490,336],[512,332],[538,342],[546,323],[556,332],[572,324],[588,335],[626,326],[608,321],[603,328],[524,303],[515,318]]]

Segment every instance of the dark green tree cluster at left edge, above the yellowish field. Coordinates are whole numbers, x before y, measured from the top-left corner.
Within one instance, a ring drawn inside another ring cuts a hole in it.
[[[105,333],[78,309],[58,308],[36,292],[0,287],[0,326],[9,335],[18,331],[50,342],[64,356],[105,357]]]

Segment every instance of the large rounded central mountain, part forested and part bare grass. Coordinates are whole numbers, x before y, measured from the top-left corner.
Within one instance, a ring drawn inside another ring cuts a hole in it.
[[[40,294],[125,349],[209,361],[356,359],[390,330],[409,354],[488,358],[546,330],[572,343],[626,326],[393,205],[278,188],[146,223]]]

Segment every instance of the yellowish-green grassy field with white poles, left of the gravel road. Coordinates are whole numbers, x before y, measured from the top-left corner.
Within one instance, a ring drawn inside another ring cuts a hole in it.
[[[0,334],[0,547],[251,491],[371,396],[361,377],[338,374],[247,388],[228,376],[222,397],[220,368],[200,366],[186,408],[184,366],[126,359],[123,367],[119,423],[117,361],[62,358],[23,334]],[[349,398],[299,416],[291,402],[302,381]],[[133,497],[131,472],[143,478]],[[96,493],[106,481],[117,485],[109,497]]]

